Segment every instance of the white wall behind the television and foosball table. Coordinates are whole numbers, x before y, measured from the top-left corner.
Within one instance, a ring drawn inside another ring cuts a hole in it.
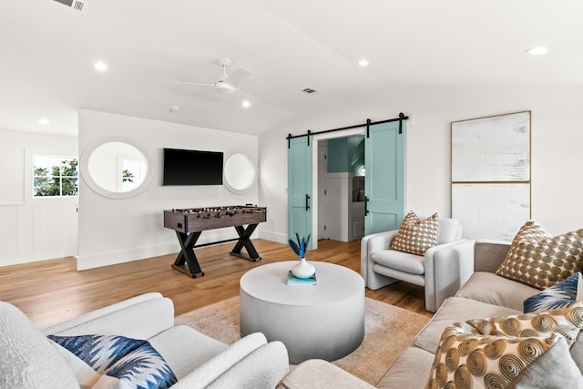
[[[225,159],[230,154],[241,152],[247,154],[257,166],[256,136],[86,109],[79,111],[81,152],[97,138],[112,136],[133,139],[150,156],[153,166],[148,171],[154,179],[145,191],[122,200],[102,197],[81,180],[79,270],[179,251],[175,231],[163,227],[163,210],[258,203],[257,184],[241,195],[231,193],[224,186],[161,185],[162,148],[222,151]],[[233,228],[209,230],[201,234],[199,243],[236,237]]]

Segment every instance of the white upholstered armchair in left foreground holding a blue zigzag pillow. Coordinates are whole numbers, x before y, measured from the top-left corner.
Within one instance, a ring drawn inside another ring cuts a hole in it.
[[[14,305],[0,302],[0,387],[78,388],[70,355],[47,335],[87,334],[148,340],[178,379],[173,389],[272,388],[289,370],[282,343],[268,343],[261,333],[252,333],[227,345],[190,327],[174,326],[172,301],[152,292],[44,329]]]

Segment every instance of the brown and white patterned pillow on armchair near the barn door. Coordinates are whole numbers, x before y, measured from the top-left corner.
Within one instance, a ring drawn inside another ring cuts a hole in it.
[[[412,210],[401,222],[390,249],[424,255],[427,249],[437,244],[438,228],[437,213],[421,221]]]

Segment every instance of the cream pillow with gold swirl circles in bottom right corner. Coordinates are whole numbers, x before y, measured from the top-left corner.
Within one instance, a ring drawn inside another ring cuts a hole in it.
[[[435,352],[426,388],[505,388],[516,384],[531,365],[544,364],[544,355],[557,347],[557,369],[580,378],[568,347],[583,327],[583,303],[544,313],[456,322],[445,328]],[[567,342],[565,342],[567,341]],[[560,344],[559,344],[560,343]],[[556,353],[554,353],[556,355]],[[557,360],[556,356],[550,360]],[[569,364],[571,369],[563,370]],[[553,370],[553,368],[551,368]],[[526,374],[528,375],[528,374]],[[524,380],[524,376],[520,379]],[[547,387],[547,383],[539,383]],[[533,387],[532,383],[527,385]]]

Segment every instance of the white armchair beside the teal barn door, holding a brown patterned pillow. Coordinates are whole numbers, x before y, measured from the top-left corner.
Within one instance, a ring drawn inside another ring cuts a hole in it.
[[[447,297],[455,295],[471,269],[460,267],[457,251],[444,249],[465,241],[463,228],[455,219],[439,218],[438,223],[437,245],[424,256],[390,250],[398,230],[365,236],[361,241],[361,274],[366,287],[376,290],[399,280],[423,286],[429,312],[435,312]]]

